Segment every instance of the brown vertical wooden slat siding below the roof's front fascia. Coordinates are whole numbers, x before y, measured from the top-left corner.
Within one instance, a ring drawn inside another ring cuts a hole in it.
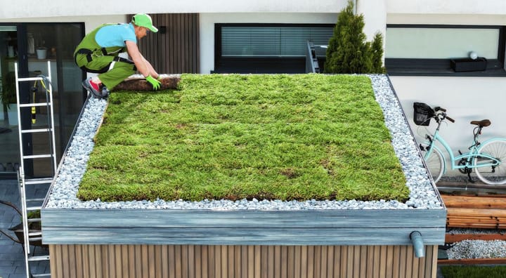
[[[437,247],[50,245],[51,277],[436,277]]]

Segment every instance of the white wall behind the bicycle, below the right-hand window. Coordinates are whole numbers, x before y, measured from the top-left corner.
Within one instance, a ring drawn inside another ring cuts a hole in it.
[[[413,102],[447,109],[455,119],[441,127],[441,135],[455,152],[465,152],[472,143],[473,125],[470,121],[489,119],[491,126],[483,129],[482,140],[506,137],[506,77],[390,77],[394,89],[418,142],[422,142],[425,127],[413,122]],[[435,128],[432,121],[429,126]],[[456,173],[456,171],[453,171]]]

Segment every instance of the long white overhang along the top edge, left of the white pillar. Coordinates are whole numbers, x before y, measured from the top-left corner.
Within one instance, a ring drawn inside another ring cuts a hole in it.
[[[0,18],[34,18],[82,15],[124,15],[134,13],[337,13],[347,0],[0,0]]]

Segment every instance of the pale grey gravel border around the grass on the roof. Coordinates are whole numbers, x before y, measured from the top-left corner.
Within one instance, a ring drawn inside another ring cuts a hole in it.
[[[100,199],[80,201],[76,194],[79,182],[86,171],[86,162],[93,150],[93,136],[96,133],[106,100],[91,98],[79,121],[77,131],[67,150],[63,164],[51,189],[46,208],[60,209],[212,209],[212,210],[310,210],[310,209],[443,209],[434,187],[427,176],[417,145],[413,140],[401,105],[391,90],[385,75],[370,75],[377,102],[382,107],[385,124],[392,135],[392,145],[401,161],[410,188],[410,199],[406,203],[395,200],[379,201],[116,201],[103,202]]]

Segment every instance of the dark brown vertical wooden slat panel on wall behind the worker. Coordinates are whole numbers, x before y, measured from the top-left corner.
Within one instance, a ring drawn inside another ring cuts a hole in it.
[[[159,31],[138,41],[138,48],[146,60],[160,74],[199,73],[198,13],[156,13],[150,16]],[[164,34],[163,27],[166,28]]]

